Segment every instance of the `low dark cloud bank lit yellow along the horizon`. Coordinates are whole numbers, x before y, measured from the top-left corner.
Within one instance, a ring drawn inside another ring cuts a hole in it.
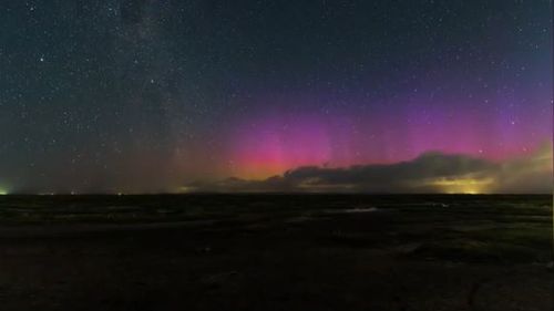
[[[500,162],[429,152],[394,164],[345,168],[298,167],[263,180],[228,178],[186,185],[209,193],[450,193],[547,194],[553,189],[552,144]]]

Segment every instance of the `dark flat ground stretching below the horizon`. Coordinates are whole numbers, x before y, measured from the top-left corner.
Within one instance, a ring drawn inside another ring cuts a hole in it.
[[[551,196],[3,196],[0,310],[553,310]]]

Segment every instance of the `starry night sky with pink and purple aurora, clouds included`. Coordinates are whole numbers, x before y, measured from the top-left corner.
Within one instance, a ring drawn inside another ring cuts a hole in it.
[[[552,191],[548,0],[6,0],[0,27],[0,193]]]

